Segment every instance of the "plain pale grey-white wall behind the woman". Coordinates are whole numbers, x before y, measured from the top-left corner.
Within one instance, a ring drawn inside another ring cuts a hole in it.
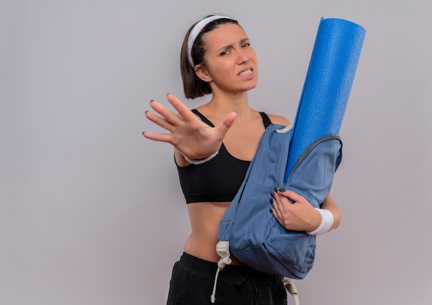
[[[320,18],[366,28],[333,196],[302,304],[431,304],[431,1],[0,1],[0,304],[164,304],[189,232],[148,101],[182,97],[206,14],[257,51],[253,106],[293,120]],[[203,99],[206,100],[206,99]],[[202,102],[200,100],[199,102]],[[191,108],[196,101],[188,101]]]

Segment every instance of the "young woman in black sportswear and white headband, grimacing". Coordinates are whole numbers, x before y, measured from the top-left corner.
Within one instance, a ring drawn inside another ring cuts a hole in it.
[[[168,304],[210,304],[219,261],[219,221],[242,184],[266,126],[290,123],[249,106],[248,90],[258,80],[257,55],[243,28],[230,17],[210,16],[190,27],[180,66],[186,98],[211,94],[210,101],[191,111],[168,94],[178,113],[150,101],[159,115],[146,112],[147,119],[168,133],[144,132],[144,137],[174,146],[192,229],[173,268]],[[273,215],[286,229],[312,232],[322,223],[304,197],[283,190],[273,197]],[[333,215],[328,229],[336,228],[340,211],[331,195],[322,208]],[[233,263],[217,280],[216,304],[286,304],[280,277],[259,273],[231,257]]]

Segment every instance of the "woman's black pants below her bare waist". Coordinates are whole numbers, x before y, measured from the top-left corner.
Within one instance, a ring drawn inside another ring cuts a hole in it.
[[[175,263],[167,305],[212,304],[217,264],[187,253]],[[219,273],[215,305],[286,305],[282,279],[248,266],[225,266]]]

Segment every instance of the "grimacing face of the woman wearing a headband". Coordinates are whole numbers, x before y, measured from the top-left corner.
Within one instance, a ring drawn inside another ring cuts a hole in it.
[[[224,24],[204,34],[203,39],[206,64],[201,72],[213,93],[217,90],[239,93],[257,86],[257,55],[240,26]]]

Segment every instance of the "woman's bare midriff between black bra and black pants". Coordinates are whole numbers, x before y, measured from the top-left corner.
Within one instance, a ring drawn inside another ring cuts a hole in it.
[[[208,262],[218,262],[220,257],[216,253],[217,234],[219,222],[228,208],[229,202],[197,202],[188,204],[190,218],[190,233],[184,251],[190,255],[204,259]],[[239,265],[242,262],[233,255],[231,264]]]

